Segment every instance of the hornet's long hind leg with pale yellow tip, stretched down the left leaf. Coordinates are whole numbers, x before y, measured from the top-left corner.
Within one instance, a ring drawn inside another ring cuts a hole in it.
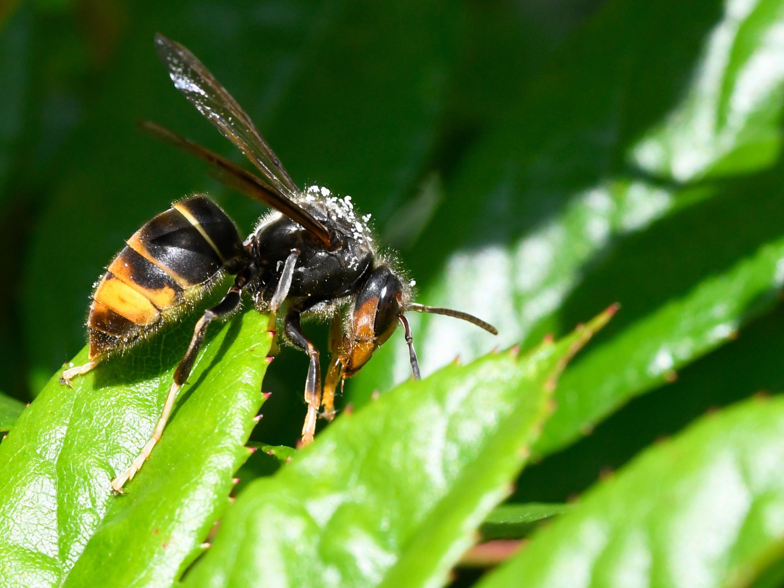
[[[180,365],[177,365],[177,368],[174,371],[174,381],[172,382],[172,387],[169,388],[169,394],[166,395],[163,412],[161,413],[161,418],[158,419],[158,423],[155,425],[152,437],[147,441],[147,445],[144,445],[139,456],[133,460],[131,466],[111,481],[111,488],[114,492],[122,492],[122,487],[125,485],[125,482],[131,480],[136,475],[136,472],[141,470],[144,462],[150,457],[155,444],[161,440],[166,421],[169,420],[169,416],[172,414],[172,408],[174,408],[174,401],[176,400],[177,393],[180,392],[180,388],[183,387],[188,376],[191,375],[191,368],[193,368],[194,361],[196,361],[198,352],[201,349],[201,343],[204,342],[204,336],[207,332],[209,323],[215,318],[229,314],[238,307],[240,303],[240,290],[248,282],[248,279],[249,276],[247,274],[238,275],[234,280],[234,285],[232,285],[229,292],[227,292],[227,295],[223,296],[223,299],[220,303],[217,303],[216,306],[209,310],[205,310],[204,314],[196,323],[194,335],[191,338],[191,345],[188,346],[188,350],[180,361]]]

